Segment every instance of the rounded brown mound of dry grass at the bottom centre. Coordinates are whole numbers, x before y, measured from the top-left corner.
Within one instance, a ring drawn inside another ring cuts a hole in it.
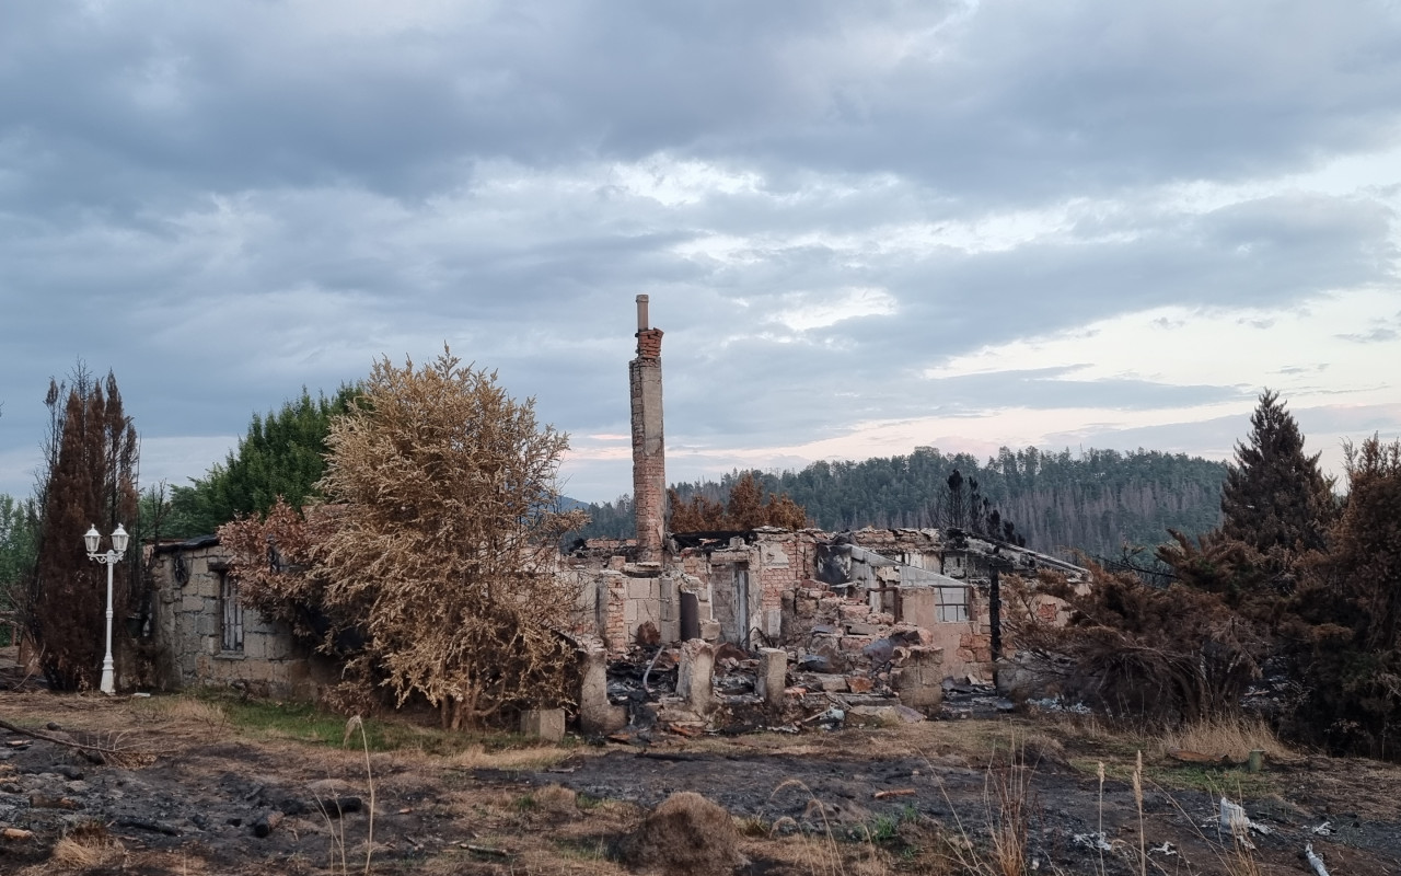
[[[691,791],[663,800],[619,851],[632,868],[667,876],[731,873],[748,863],[730,813]]]

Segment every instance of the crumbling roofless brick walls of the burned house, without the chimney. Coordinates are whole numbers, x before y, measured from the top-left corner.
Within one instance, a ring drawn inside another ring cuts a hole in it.
[[[843,552],[841,562],[824,566],[834,549]],[[587,566],[586,579],[607,582],[584,586],[608,593],[598,635],[614,652],[628,648],[646,622],[664,642],[675,642],[679,593],[689,591],[696,594],[702,625],[712,631],[708,638],[761,648],[793,643],[794,635],[817,624],[834,628],[822,634],[832,638],[827,642],[832,650],[859,653],[895,629],[915,628],[922,645],[941,650],[943,671],[982,681],[992,680],[995,667],[988,591],[993,562],[1009,575],[1027,576],[1044,566],[1084,572],[1055,558],[940,530],[867,528],[835,537],[758,528],[675,535],[660,563],[633,563],[628,555],[609,555],[602,544],[566,561],[574,569]],[[841,569],[846,586],[820,583],[824,569],[829,579],[832,569]],[[946,618],[939,611],[941,598],[967,608],[961,617]],[[1056,608],[1038,605],[1038,611],[1055,614]],[[1010,650],[1005,636],[1000,656]]]

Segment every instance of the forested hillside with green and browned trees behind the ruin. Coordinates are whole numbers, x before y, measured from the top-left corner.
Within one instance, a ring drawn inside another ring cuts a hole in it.
[[[958,472],[958,489],[950,477]],[[741,472],[678,484],[682,499],[700,492],[723,500]],[[909,456],[860,463],[814,463],[803,471],[761,475],[769,492],[786,492],[827,530],[876,527],[971,527],[986,524],[996,510],[1000,526],[1012,523],[1027,547],[1045,552],[1082,549],[1118,556],[1125,544],[1157,545],[1167,527],[1205,533],[1220,520],[1223,463],[1150,450],[1118,453],[1035,447],[1002,451],[979,463],[968,454],[941,454],[919,447]],[[587,507],[590,535],[626,535],[632,505]]]

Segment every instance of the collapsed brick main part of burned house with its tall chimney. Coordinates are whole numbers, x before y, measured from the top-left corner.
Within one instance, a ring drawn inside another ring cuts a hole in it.
[[[580,629],[608,653],[636,643],[729,645],[766,659],[778,652],[785,664],[818,670],[824,690],[890,684],[904,687],[905,705],[937,705],[937,694],[912,688],[946,678],[991,683],[999,660],[1012,656],[1000,629],[1003,576],[1089,580],[1072,563],[958,530],[667,533],[661,331],[649,324],[647,296],[637,296],[636,336],[636,537],[577,542],[558,569],[581,594]],[[1016,610],[1056,621],[1063,604],[1035,596]],[[681,653],[688,648],[696,650],[685,645]],[[897,664],[905,663],[920,667],[919,684],[901,684]]]

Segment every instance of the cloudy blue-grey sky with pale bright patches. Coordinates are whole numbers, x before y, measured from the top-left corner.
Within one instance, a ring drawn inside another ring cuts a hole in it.
[[[1394,0],[0,6],[0,492],[113,370],[144,484],[444,342],[630,488],[1401,434]]]

